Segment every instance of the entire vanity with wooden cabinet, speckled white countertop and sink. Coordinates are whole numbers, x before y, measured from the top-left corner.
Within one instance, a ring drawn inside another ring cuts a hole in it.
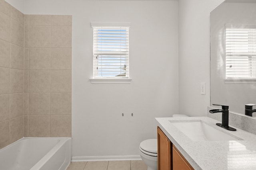
[[[156,120],[158,170],[256,169],[256,135],[252,133],[239,127],[227,131],[210,117]]]

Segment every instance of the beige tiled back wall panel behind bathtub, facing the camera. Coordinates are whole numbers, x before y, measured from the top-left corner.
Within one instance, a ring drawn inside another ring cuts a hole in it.
[[[71,137],[72,16],[24,16],[24,136]]]

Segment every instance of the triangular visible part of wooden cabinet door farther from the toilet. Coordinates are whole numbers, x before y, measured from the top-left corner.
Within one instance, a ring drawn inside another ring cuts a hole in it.
[[[194,170],[188,161],[182,156],[178,149],[172,145],[172,169],[173,170]]]

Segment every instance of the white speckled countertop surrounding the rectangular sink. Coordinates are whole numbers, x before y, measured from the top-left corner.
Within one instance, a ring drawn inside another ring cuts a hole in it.
[[[161,117],[156,120],[160,129],[195,170],[256,170],[256,135],[236,127],[236,131],[228,131],[218,127],[216,123],[221,122],[210,117]],[[243,140],[192,141],[170,120],[202,120]]]

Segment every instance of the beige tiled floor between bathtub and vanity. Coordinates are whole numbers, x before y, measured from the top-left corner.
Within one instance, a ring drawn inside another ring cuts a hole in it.
[[[71,162],[67,170],[147,170],[142,160]]]

